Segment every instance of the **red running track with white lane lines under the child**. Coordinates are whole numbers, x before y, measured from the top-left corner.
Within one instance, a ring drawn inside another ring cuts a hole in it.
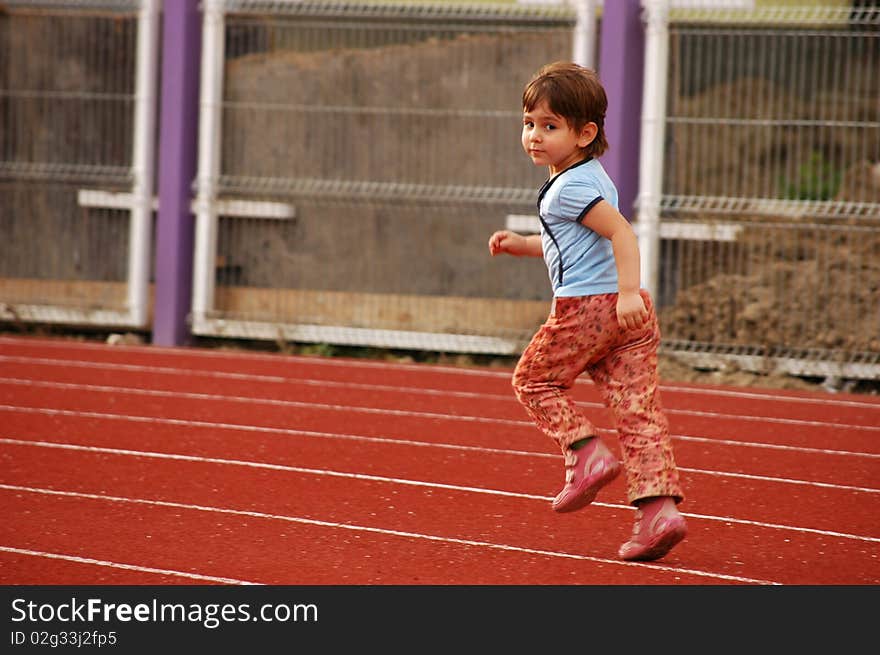
[[[665,384],[690,533],[627,563],[510,373],[0,338],[0,584],[880,583],[880,399]]]

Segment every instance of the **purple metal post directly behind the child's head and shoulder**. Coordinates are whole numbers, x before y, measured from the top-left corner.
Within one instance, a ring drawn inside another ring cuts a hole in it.
[[[642,80],[645,32],[640,0],[605,2],[599,52],[599,77],[608,95],[605,133],[610,148],[602,165],[617,185],[620,213],[632,222],[639,190]]]

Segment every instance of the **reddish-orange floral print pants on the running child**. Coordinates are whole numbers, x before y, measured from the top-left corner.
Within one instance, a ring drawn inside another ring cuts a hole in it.
[[[582,373],[595,382],[617,428],[630,503],[651,496],[684,499],[660,402],[657,347],[660,327],[646,291],[647,323],[626,330],[617,323],[617,294],[555,298],[513,374],[520,403],[563,453],[597,435],[569,391]]]

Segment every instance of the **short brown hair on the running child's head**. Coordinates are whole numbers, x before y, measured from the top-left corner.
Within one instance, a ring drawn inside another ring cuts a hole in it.
[[[595,71],[566,61],[543,66],[523,90],[523,111],[532,111],[546,101],[550,111],[580,132],[587,123],[598,127],[596,138],[584,148],[592,157],[608,150],[605,137],[605,112],[608,97]]]

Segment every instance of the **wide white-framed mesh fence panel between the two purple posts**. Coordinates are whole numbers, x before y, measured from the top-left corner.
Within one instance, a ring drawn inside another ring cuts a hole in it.
[[[576,26],[553,5],[205,3],[194,331],[515,352],[546,275],[490,267],[486,241],[534,205],[522,83]]]

